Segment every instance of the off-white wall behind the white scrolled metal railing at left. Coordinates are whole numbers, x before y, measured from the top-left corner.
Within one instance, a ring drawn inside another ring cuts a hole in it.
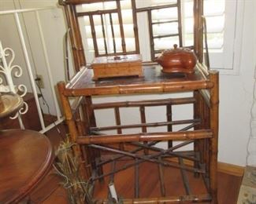
[[[30,1],[30,0],[0,0],[0,10],[12,9],[29,9],[44,6],[57,6],[56,0]],[[44,60],[43,46],[40,40],[39,27],[36,23],[35,12],[20,13],[20,23],[24,31],[24,37],[28,48],[28,55],[31,61],[32,72],[43,75],[45,88],[42,89],[43,96],[46,98],[47,104],[50,106],[50,114],[56,115],[54,109],[54,100],[50,91],[50,81],[46,72],[46,60]],[[47,9],[39,11],[39,17],[43,27],[43,35],[46,41],[46,49],[50,61],[51,73],[53,75],[54,84],[65,78],[64,52],[63,42],[65,35],[65,19],[62,9]],[[29,38],[29,41],[28,41]],[[21,78],[15,79],[15,83],[20,83],[28,87],[28,91],[32,92],[31,83],[28,80],[27,64],[24,60],[24,53],[20,44],[20,37],[17,32],[17,25],[13,14],[0,16],[0,40],[4,47],[10,47],[16,54],[13,64],[19,64],[24,74]],[[70,55],[69,55],[70,56]],[[72,65],[72,64],[71,64]],[[38,91],[39,93],[39,91]],[[48,114],[46,105],[40,99],[43,111]]]

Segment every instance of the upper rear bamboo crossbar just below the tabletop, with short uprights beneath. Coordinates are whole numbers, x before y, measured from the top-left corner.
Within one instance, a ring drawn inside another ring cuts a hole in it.
[[[111,107],[139,107],[139,106],[165,106],[165,105],[178,105],[178,104],[193,104],[195,103],[194,97],[184,98],[169,98],[161,100],[139,100],[139,101],[121,101],[112,103],[93,104],[94,109],[104,109]]]

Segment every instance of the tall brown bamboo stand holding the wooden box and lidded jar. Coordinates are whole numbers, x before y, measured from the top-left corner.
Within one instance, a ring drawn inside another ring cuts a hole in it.
[[[134,5],[135,1],[131,1]],[[132,198],[123,199],[122,202],[124,203],[217,203],[218,72],[210,71],[202,64],[201,16],[203,1],[194,1],[194,51],[198,57],[194,74],[165,74],[161,71],[161,67],[152,63],[143,65],[143,77],[104,78],[96,81],[93,80],[91,68],[86,67],[77,20],[81,14],[76,13],[76,5],[91,2],[104,1],[66,0],[62,2],[70,28],[72,52],[77,73],[68,83],[58,83],[70,139],[79,144],[74,146],[74,152],[84,164],[82,166],[83,177],[91,180],[92,184],[98,180],[115,183],[117,173],[133,167],[135,169],[134,195]],[[177,5],[180,6],[180,1],[177,2]],[[101,13],[99,12],[99,14]],[[147,93],[161,93],[162,95],[185,92],[191,92],[193,95],[191,97],[154,100],[106,101],[101,104],[95,104],[92,101],[92,97],[95,96]],[[182,120],[173,119],[173,106],[184,104],[191,104],[193,117]],[[163,106],[166,110],[166,121],[147,122],[147,107]],[[130,125],[121,123],[121,108],[127,107],[138,107],[140,123]],[[95,111],[109,108],[113,109],[115,125],[97,126]],[[182,125],[180,129],[174,128],[180,125]],[[165,126],[167,131],[149,132],[149,128],[159,126]],[[134,128],[139,128],[139,133],[124,133],[124,129]],[[107,130],[114,130],[116,133],[103,133]],[[154,146],[161,141],[167,142],[168,148]],[[187,144],[192,144],[193,150],[180,150]],[[109,158],[107,156],[109,153],[106,154],[106,152],[112,152],[112,156]],[[124,166],[117,167],[117,162],[123,161],[124,158],[129,158],[129,162]],[[140,198],[139,196],[141,195],[139,191],[139,165],[143,162],[158,165],[156,172],[159,175],[160,184],[158,197]],[[105,168],[105,166],[110,167]],[[166,191],[164,175],[166,170],[163,170],[164,168],[180,169],[180,182],[184,184],[183,195],[169,195],[169,192]],[[193,192],[187,179],[187,173],[194,173],[196,178],[203,180],[206,188],[205,193],[195,194]],[[101,198],[95,201],[96,203],[109,203],[107,199]],[[85,202],[90,203],[88,200]]]

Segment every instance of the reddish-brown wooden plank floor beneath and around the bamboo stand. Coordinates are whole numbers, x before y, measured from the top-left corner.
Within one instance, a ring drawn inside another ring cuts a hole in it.
[[[64,126],[58,126],[61,130],[62,137],[65,137]],[[50,130],[46,133],[47,137],[50,138],[54,145],[54,148],[58,147],[58,143],[61,140],[61,135],[56,129]],[[119,164],[122,165],[122,164]],[[158,172],[155,171],[158,168],[157,165],[152,163],[143,163],[139,166],[140,177],[140,196],[142,197],[155,197],[160,194],[160,184],[158,182]],[[179,193],[184,193],[184,187],[180,184],[180,170],[178,169],[165,169],[165,188],[167,195],[177,195]],[[117,174],[115,177],[115,185],[119,195],[125,198],[131,198],[134,194],[133,187],[134,178],[134,168],[127,169],[123,173]],[[242,177],[235,177],[225,173],[218,173],[218,202],[220,204],[232,204],[236,203],[236,199],[239,192],[239,186],[241,184]],[[48,176],[43,180],[41,184],[32,192],[31,199],[32,203],[69,203],[66,191],[61,186],[61,179],[54,169],[49,173]],[[189,182],[191,186],[194,186],[191,190],[193,193],[203,193],[206,191],[203,188],[202,180],[193,177],[192,173],[189,175]],[[108,180],[106,178],[105,182],[96,185],[96,197],[104,198],[106,197],[106,184]]]

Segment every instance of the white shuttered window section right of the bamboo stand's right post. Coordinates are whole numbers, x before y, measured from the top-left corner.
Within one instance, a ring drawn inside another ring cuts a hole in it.
[[[239,0],[204,1],[210,67],[223,74],[239,74],[243,4]]]

